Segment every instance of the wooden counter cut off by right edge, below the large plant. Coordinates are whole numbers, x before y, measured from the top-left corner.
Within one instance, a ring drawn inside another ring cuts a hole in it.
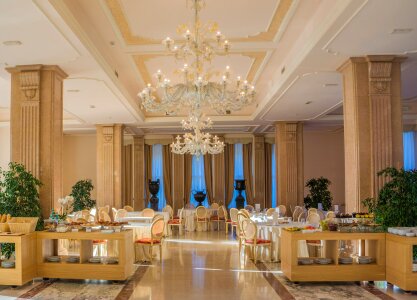
[[[387,281],[406,291],[417,290],[417,272],[413,272],[413,245],[417,237],[386,234]]]

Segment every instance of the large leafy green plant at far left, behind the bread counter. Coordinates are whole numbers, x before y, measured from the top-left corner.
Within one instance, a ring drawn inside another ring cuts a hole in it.
[[[37,230],[42,229],[42,215],[39,201],[41,182],[25,166],[10,162],[8,170],[0,169],[0,213],[12,217],[38,217]],[[2,256],[9,259],[14,244],[1,244]]]

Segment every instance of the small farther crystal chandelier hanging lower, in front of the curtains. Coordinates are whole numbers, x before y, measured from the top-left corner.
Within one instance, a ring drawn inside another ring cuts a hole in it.
[[[175,154],[189,153],[191,155],[219,154],[224,150],[224,143],[217,135],[212,138],[210,133],[202,132],[202,129],[210,129],[213,122],[210,118],[202,120],[201,114],[192,114],[188,120],[182,120],[184,130],[192,130],[192,133],[185,133],[182,139],[179,135],[176,141],[171,144],[171,151]]]

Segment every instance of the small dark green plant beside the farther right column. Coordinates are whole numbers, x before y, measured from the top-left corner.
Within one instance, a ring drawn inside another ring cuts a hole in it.
[[[330,180],[324,177],[311,178],[306,182],[309,194],[304,198],[304,205],[307,209],[319,208],[321,203],[323,210],[330,210],[332,207],[332,194],[329,191]]]

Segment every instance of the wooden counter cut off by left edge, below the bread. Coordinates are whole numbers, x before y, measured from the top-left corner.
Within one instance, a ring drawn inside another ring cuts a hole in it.
[[[15,267],[0,268],[0,285],[23,285],[36,277],[36,233],[1,235],[0,243],[15,244]]]

